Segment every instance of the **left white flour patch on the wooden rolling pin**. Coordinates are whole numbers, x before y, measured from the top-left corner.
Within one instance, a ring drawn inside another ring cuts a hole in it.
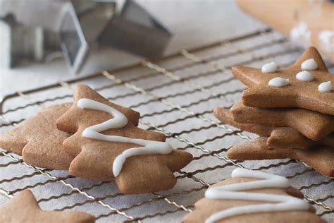
[[[307,23],[298,23],[292,30],[290,30],[290,40],[296,44],[309,45],[311,43],[311,31],[309,30]]]

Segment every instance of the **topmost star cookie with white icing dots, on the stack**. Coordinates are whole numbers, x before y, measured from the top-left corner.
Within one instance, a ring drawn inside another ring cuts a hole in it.
[[[262,69],[233,66],[232,73],[249,89],[242,103],[250,107],[299,107],[334,115],[334,75],[328,73],[323,59],[309,47],[295,64],[278,71],[276,64]]]

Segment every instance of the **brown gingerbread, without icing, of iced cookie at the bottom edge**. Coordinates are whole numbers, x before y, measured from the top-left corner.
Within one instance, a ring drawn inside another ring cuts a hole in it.
[[[263,181],[263,179],[256,179],[252,177],[233,177],[226,179],[224,181],[215,183],[213,186],[210,186],[209,189],[217,188],[221,186],[227,186],[230,184],[237,183],[247,183],[251,181]],[[231,185],[232,186],[232,185]],[[234,185],[236,186],[236,185]],[[295,198],[303,198],[304,195],[295,188],[255,188],[252,190],[237,190],[241,193],[260,193],[260,194],[269,194],[269,195],[285,195],[292,196]],[[235,193],[235,191],[233,191]],[[262,196],[259,196],[259,200],[237,200],[234,198],[230,199],[210,199],[202,198],[201,200],[195,203],[195,210],[186,215],[183,218],[183,222],[206,222],[209,217],[212,215],[229,210],[233,207],[247,207],[248,205],[261,205],[268,203],[267,201],[261,200]],[[305,201],[306,202],[306,201]],[[271,203],[273,204],[273,203]],[[278,212],[254,212],[254,213],[243,213],[241,215],[235,215],[227,217],[225,219],[218,219],[215,222],[226,222],[226,223],[257,223],[257,222],[271,222],[271,223],[280,223],[280,222],[325,222],[323,219],[315,215],[315,210],[313,207],[309,207],[307,210],[290,210],[290,211],[278,211]]]

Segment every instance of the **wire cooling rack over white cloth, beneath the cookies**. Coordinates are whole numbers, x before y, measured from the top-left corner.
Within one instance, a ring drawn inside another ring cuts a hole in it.
[[[140,111],[141,128],[165,133],[173,147],[191,152],[194,159],[175,173],[178,183],[173,189],[123,195],[113,182],[87,181],[67,171],[32,167],[18,155],[0,149],[0,203],[30,188],[44,210],[82,210],[95,215],[98,222],[180,222],[204,197],[208,186],[228,178],[238,166],[286,176],[317,215],[333,221],[333,179],[294,159],[228,159],[229,147],[254,135],[220,123],[212,114],[214,107],[228,108],[239,101],[245,89],[231,75],[231,66],[260,67],[276,61],[285,67],[301,52],[267,28],[158,60],[7,95],[0,107],[0,133],[41,107],[70,102],[75,85],[85,83],[109,100]],[[328,67],[333,71],[333,64]]]

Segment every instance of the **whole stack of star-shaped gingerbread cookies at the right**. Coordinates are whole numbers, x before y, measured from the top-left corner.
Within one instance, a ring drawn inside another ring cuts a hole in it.
[[[228,158],[299,159],[333,177],[334,75],[316,48],[284,70],[272,62],[261,69],[234,66],[232,72],[249,88],[242,102],[230,110],[217,107],[214,115],[260,137],[235,145]]]

